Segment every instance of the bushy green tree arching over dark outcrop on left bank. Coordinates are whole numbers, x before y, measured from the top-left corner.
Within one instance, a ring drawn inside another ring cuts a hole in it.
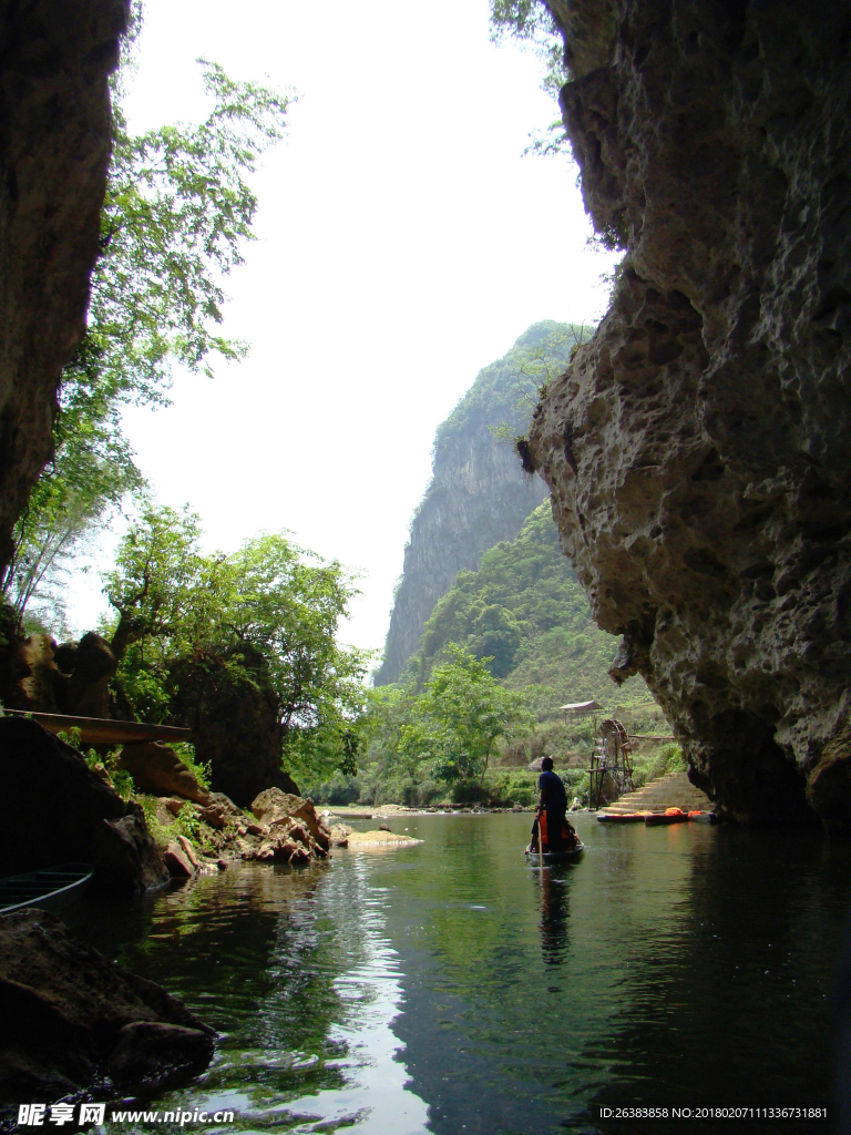
[[[211,705],[213,686],[242,684],[268,706],[278,766],[284,755],[295,774],[353,772],[370,655],[340,646],[337,631],[354,578],[280,533],[229,556],[202,555],[199,538],[196,516],[151,506],[106,581],[134,711],[161,721],[199,698]]]

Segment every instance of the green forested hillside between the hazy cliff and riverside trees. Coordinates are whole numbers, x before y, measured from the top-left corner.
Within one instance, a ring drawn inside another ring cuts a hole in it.
[[[597,698],[603,705],[650,699],[641,679],[617,689],[608,676],[617,639],[595,625],[548,503],[516,539],[486,552],[478,572],[458,572],[427,622],[406,676],[427,681],[448,642],[480,658],[492,656],[491,673],[514,689],[545,684],[561,701]]]

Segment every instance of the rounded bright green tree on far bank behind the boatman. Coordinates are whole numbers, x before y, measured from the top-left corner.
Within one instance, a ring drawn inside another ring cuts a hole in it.
[[[411,699],[398,748],[411,759],[429,759],[444,781],[481,780],[497,738],[531,732],[534,718],[522,693],[504,689],[487,667],[449,644],[448,661],[435,667],[423,693]]]

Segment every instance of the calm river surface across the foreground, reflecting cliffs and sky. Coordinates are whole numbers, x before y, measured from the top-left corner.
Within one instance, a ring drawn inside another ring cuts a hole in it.
[[[220,1033],[210,1069],[152,1107],[236,1112],[207,1132],[614,1135],[742,1127],[600,1107],[829,1102],[848,847],[581,816],[582,861],[541,872],[528,815],[390,824],[426,842],[77,908]]]

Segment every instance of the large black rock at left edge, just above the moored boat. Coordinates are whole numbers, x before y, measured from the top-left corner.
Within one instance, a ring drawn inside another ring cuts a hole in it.
[[[124,800],[69,745],[34,721],[0,717],[0,873],[91,863],[103,885],[168,882],[142,809]]]

